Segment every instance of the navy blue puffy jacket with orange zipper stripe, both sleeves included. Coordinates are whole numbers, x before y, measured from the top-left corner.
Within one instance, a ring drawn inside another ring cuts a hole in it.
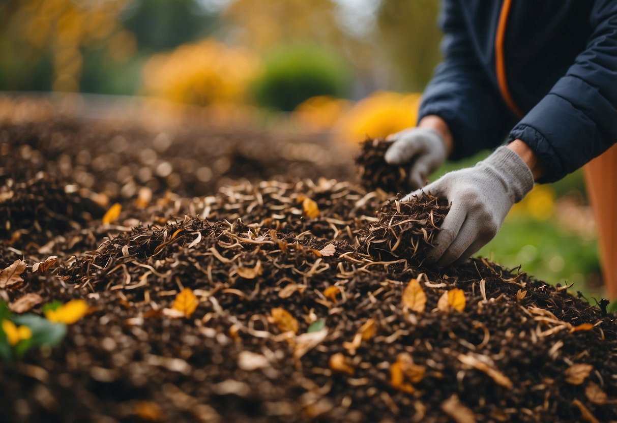
[[[615,144],[617,0],[444,0],[440,24],[418,120],[447,122],[452,158],[521,139],[551,182]]]

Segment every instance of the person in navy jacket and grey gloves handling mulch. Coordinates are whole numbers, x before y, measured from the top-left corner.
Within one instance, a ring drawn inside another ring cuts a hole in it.
[[[428,255],[447,266],[489,242],[534,183],[563,178],[617,141],[617,1],[441,6],[442,63],[424,91],[418,125],[389,136],[386,161],[412,163],[416,191],[407,198],[429,192],[451,203]],[[503,141],[486,160],[423,186],[446,158]]]

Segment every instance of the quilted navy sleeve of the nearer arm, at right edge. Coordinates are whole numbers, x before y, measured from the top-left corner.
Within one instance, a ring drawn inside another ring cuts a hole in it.
[[[590,24],[586,49],[508,137],[544,163],[541,183],[563,178],[617,141],[617,1],[596,0]]]

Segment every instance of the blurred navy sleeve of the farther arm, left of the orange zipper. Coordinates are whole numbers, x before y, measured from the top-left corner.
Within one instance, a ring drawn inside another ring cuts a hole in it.
[[[448,125],[453,137],[450,158],[467,157],[505,140],[511,121],[506,122],[504,106],[476,56],[457,0],[444,0],[440,27],[443,61],[424,90],[418,121],[437,115]]]

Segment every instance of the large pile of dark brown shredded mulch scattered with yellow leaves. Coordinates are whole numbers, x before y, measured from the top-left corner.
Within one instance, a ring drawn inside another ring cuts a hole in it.
[[[91,306],[0,363],[2,421],[617,421],[605,303],[424,263],[447,205],[345,182],[321,141],[70,120],[0,139],[0,269],[28,263],[0,295]]]

